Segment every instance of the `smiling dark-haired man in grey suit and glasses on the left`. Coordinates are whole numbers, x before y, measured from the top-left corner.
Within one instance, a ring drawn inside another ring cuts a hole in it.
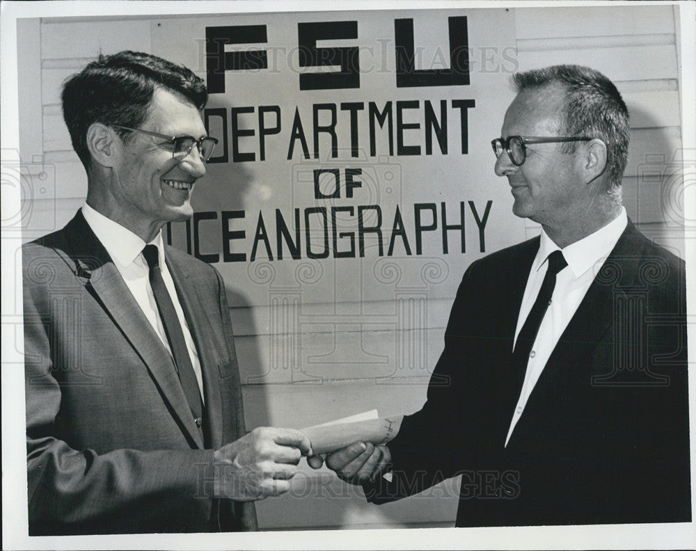
[[[310,443],[246,434],[219,273],[164,245],[216,140],[203,81],[100,56],[63,89],[87,199],[22,249],[29,534],[253,530]]]

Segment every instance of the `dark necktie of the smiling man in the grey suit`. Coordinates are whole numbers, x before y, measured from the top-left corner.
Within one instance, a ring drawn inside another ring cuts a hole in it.
[[[203,401],[200,399],[200,390],[196,374],[193,372],[191,365],[191,357],[189,349],[184,340],[184,332],[182,331],[179,317],[174,309],[174,303],[171,296],[164,285],[162,273],[159,269],[159,255],[157,254],[157,246],[146,245],[143,249],[143,256],[150,266],[150,285],[152,285],[152,293],[155,294],[155,302],[159,310],[164,325],[164,332],[167,335],[169,347],[174,356],[179,381],[184,388],[184,394],[191,406],[191,413],[196,420],[196,426],[200,428],[203,423]]]

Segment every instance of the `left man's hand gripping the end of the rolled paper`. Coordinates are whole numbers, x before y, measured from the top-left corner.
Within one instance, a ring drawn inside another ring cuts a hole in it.
[[[260,427],[215,450],[214,496],[262,500],[290,489],[302,456],[311,453],[300,431]]]

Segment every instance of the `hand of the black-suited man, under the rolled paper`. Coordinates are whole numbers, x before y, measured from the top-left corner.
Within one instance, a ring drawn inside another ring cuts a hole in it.
[[[318,469],[324,461],[320,456],[310,456],[307,463]],[[350,484],[373,481],[390,467],[391,454],[386,446],[375,446],[370,442],[353,442],[326,457],[326,466],[338,477]]]

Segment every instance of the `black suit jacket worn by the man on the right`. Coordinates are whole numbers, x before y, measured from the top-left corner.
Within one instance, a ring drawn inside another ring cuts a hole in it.
[[[381,503],[462,475],[457,526],[691,518],[684,263],[629,221],[560,337],[507,448],[512,361],[539,238],[471,264],[427,403],[389,443]],[[427,493],[419,496],[424,506]]]

